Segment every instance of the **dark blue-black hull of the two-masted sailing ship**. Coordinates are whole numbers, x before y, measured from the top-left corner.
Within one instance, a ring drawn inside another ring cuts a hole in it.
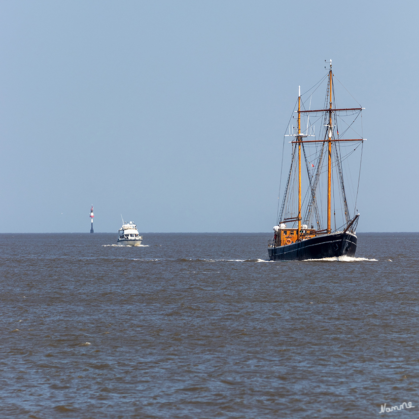
[[[316,236],[285,246],[268,246],[270,260],[308,260],[354,256],[357,237],[352,233]]]

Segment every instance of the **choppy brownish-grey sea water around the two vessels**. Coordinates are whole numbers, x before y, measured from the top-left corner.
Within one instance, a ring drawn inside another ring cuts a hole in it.
[[[419,417],[419,234],[270,238],[1,234],[0,417]]]

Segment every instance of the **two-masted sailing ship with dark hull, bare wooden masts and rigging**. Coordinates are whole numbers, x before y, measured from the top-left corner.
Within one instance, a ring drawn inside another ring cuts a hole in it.
[[[362,106],[339,107],[335,98],[335,77],[330,68],[313,90],[302,98],[300,87],[295,126],[290,126],[285,137],[293,137],[291,167],[288,172],[274,238],[268,244],[271,260],[308,260],[339,256],[354,256],[359,213],[356,201],[359,188],[351,191],[353,212],[349,211],[349,194],[345,190],[344,169],[353,175],[353,155],[362,160],[362,134],[357,131],[361,122]],[[324,105],[311,107],[313,91],[321,82],[326,84]],[[349,122],[346,122],[349,117]],[[311,121],[310,121],[310,118]],[[321,125],[315,134],[315,122]],[[339,135],[339,125],[344,130]],[[354,134],[353,134],[354,133]],[[349,134],[352,134],[351,136]],[[349,135],[349,138],[347,136]],[[352,138],[350,138],[352,137]],[[356,138],[354,138],[356,137]],[[303,176],[304,175],[304,176]],[[303,193],[304,190],[304,193]],[[333,202],[332,202],[333,200]],[[333,212],[332,212],[333,206]]]

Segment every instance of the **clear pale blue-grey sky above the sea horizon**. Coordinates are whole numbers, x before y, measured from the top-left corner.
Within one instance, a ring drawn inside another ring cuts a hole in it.
[[[358,232],[418,231],[417,1],[0,2],[0,232],[272,232],[324,60],[363,113]],[[286,159],[289,151],[286,151]]]

